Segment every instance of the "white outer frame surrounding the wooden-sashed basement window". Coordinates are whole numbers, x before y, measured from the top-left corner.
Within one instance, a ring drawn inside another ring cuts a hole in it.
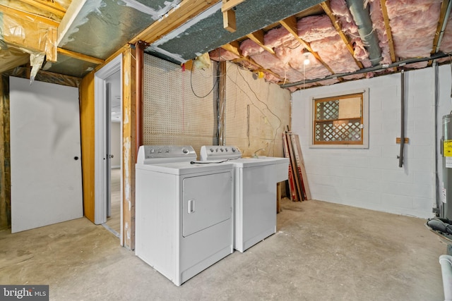
[[[314,145],[314,102],[316,99],[328,98],[328,97],[340,97],[342,95],[349,94],[358,94],[362,93],[362,145]],[[359,89],[359,90],[350,90],[343,92],[333,92],[323,95],[318,95],[315,97],[311,97],[309,102],[310,109],[310,139],[309,139],[309,148],[323,148],[323,149],[368,149],[369,148],[369,88]]]

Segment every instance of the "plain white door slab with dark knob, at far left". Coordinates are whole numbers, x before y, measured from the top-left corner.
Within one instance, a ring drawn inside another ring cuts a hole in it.
[[[83,216],[78,89],[10,77],[11,232]]]

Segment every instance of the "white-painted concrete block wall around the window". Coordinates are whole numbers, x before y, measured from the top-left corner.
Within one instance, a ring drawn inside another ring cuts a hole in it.
[[[400,145],[400,73],[292,93],[292,132],[299,134],[313,199],[427,218],[436,207],[435,139],[441,116],[451,110],[450,66],[438,67],[439,114],[435,121],[435,69],[405,72],[405,145]],[[369,148],[309,147],[313,97],[369,88]],[[441,159],[441,156],[439,156]],[[441,169],[441,164],[439,164]],[[441,174],[439,174],[441,177]]]

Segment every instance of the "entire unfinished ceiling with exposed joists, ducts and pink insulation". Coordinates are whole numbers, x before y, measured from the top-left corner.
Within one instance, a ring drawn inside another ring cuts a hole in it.
[[[450,0],[0,0],[0,72],[30,62],[31,76],[82,78],[143,41],[173,63],[208,53],[294,91],[448,62],[450,11]]]

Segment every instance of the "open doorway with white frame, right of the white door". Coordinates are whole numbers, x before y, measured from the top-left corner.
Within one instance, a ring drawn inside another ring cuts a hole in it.
[[[95,223],[122,242],[121,61],[95,73]]]

